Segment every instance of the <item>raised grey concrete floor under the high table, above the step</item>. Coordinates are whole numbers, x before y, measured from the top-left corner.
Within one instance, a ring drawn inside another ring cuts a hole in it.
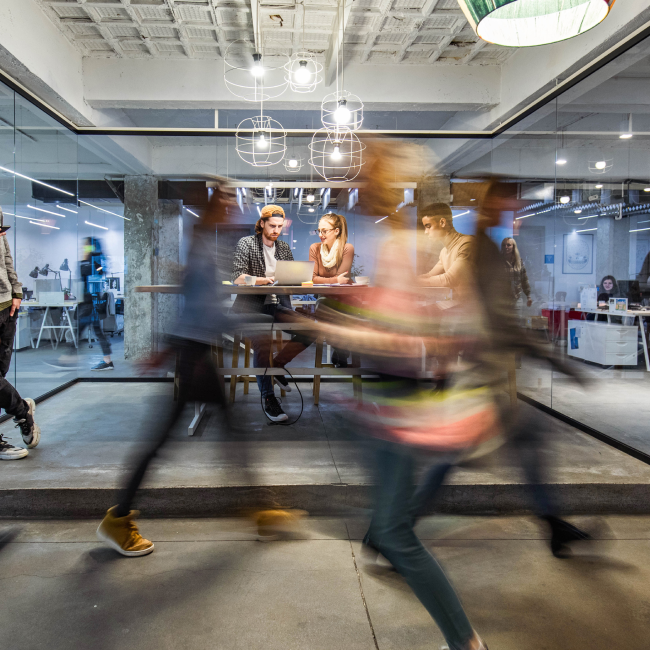
[[[153,462],[146,485],[369,483],[368,452],[339,404],[341,398],[351,397],[352,385],[323,384],[319,406],[313,404],[311,384],[299,386],[304,412],[291,426],[270,426],[255,385],[247,396],[240,386],[233,407],[233,420],[242,430],[236,442],[225,437],[216,408],[209,409],[197,435],[189,437],[187,427],[194,415],[189,407]],[[26,458],[2,464],[0,489],[117,487],[131,471],[133,457],[159,434],[172,405],[170,383],[76,384],[37,407],[41,444]],[[284,406],[292,418],[300,413],[295,388]],[[524,404],[521,408],[532,409]],[[551,482],[650,484],[650,466],[539,411],[532,413],[547,429],[544,459]],[[11,421],[3,423],[0,433],[17,443],[13,426]],[[430,462],[422,458],[423,464]],[[449,477],[452,485],[523,482],[519,463],[507,447]]]

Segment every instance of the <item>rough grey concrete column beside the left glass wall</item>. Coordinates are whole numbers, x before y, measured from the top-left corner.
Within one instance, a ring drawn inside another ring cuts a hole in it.
[[[158,179],[124,177],[124,357],[146,359],[155,350],[154,296],[136,293],[135,287],[156,284],[158,247],[156,212]]]

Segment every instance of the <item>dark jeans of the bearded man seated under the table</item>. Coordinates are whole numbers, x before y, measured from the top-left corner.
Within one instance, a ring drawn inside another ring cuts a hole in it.
[[[294,323],[303,320],[293,309],[283,307],[282,305],[264,305],[263,312],[268,316],[273,316],[277,323]],[[256,368],[268,368],[269,355],[271,352],[272,341],[271,325],[269,324],[269,333],[260,334],[251,337],[253,344],[253,365]],[[306,350],[316,340],[315,334],[291,334],[291,341],[287,343],[282,350],[273,358],[275,368],[284,367],[294,357]],[[257,385],[262,393],[262,397],[273,394],[273,379],[271,375],[257,375]]]

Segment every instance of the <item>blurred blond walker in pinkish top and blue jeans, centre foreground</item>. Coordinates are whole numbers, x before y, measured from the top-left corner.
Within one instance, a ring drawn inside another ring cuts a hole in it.
[[[358,350],[364,355],[364,365],[374,366],[380,377],[364,388],[364,400],[354,409],[357,430],[368,432],[374,441],[376,487],[367,545],[405,578],[440,627],[450,650],[485,650],[442,568],[415,534],[410,514],[416,457],[431,444],[462,447],[467,443],[465,432],[474,435],[472,427],[441,426],[430,386],[422,387],[418,381],[422,341],[435,328],[431,328],[431,316],[419,306],[412,231],[404,211],[393,212],[390,191],[394,169],[410,169],[416,155],[404,145],[396,148],[393,143],[389,147],[373,142],[368,146],[362,180],[372,181],[373,192],[367,193],[360,207],[370,217],[388,214],[391,236],[378,254],[382,264],[375,286],[364,296],[361,314],[365,317],[359,319],[343,310],[319,323],[328,341]],[[465,398],[462,401],[466,404]],[[494,421],[494,417],[484,417],[482,407],[471,411],[478,423],[489,426]],[[464,416],[456,413],[455,417]]]

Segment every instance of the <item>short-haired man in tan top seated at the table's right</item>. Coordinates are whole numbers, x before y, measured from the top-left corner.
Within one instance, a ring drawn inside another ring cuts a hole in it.
[[[472,276],[474,237],[461,235],[453,225],[451,208],[446,203],[433,203],[424,210],[424,232],[434,240],[442,240],[438,263],[424,275],[420,283],[427,287],[448,287],[454,297],[463,294]]]

